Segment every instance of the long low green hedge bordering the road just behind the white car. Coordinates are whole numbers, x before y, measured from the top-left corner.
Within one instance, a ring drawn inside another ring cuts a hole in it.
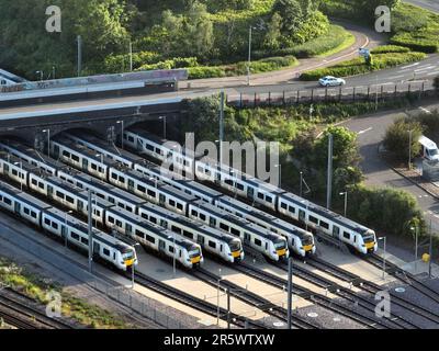
[[[301,75],[301,80],[318,80],[324,76],[349,77],[367,73],[373,70],[395,67],[426,58],[424,53],[387,53],[375,54],[373,61],[368,66],[363,58],[358,57],[335,66],[306,71]]]

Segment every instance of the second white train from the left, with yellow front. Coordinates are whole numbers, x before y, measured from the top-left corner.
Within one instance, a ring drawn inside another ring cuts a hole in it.
[[[19,160],[15,156],[0,151],[0,173],[64,207],[88,215],[86,191],[81,192],[68,183],[63,183],[58,178]],[[185,268],[198,267],[204,260],[200,245],[175,236],[171,231],[139,216],[133,216],[132,213],[117,208],[102,199],[93,199],[92,218],[106,229],[127,235],[155,252],[170,258],[176,256],[176,260]]]

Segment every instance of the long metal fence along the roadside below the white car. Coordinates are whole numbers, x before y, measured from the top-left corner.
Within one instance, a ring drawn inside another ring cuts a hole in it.
[[[279,106],[317,102],[383,102],[392,99],[432,97],[432,81],[414,81],[368,87],[315,88],[227,95],[227,104],[235,107]]]

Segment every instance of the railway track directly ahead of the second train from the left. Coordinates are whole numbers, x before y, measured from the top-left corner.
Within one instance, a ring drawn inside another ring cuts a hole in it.
[[[221,285],[229,290],[230,296],[234,296],[251,306],[257,307],[258,309],[264,312],[266,314],[279,318],[282,321],[288,320],[288,310],[283,307],[280,307],[270,301],[249,292],[248,290],[243,290],[240,286],[227,281],[222,280],[216,274],[213,274],[204,269],[196,270],[191,272],[198,279],[205,281],[212,286],[217,286],[218,281],[221,281]],[[294,317],[294,321],[292,321],[292,326],[299,329],[317,329],[318,326],[307,321],[302,317]]]

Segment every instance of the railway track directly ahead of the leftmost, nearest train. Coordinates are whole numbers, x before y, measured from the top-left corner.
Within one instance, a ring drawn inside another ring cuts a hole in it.
[[[191,294],[183,293],[182,291],[175,288],[168,284],[161,283],[146,274],[136,272],[135,274],[136,283],[145,286],[146,288],[153,290],[156,293],[159,293],[164,296],[170,297],[183,305],[192,307],[196,310],[200,310],[206,315],[212,317],[217,316],[217,306],[207,303],[199,297],[195,297]],[[223,320],[227,320],[227,310],[225,308],[219,308],[219,318]],[[262,322],[258,322],[255,320],[245,319],[236,314],[229,314],[230,320],[233,320],[233,325],[236,325],[239,328],[251,328],[251,329],[267,329]]]

